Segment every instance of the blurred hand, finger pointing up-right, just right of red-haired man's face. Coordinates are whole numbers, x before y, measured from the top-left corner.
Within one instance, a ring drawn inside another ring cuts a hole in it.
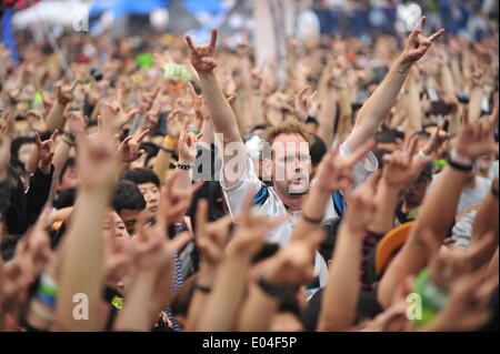
[[[334,151],[328,152],[319,165],[318,179],[314,182],[314,186],[318,185],[326,193],[349,189],[353,182],[353,165],[373,146],[374,141],[370,140],[347,156]]]

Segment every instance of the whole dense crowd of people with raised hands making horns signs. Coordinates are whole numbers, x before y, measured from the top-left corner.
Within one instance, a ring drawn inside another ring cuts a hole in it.
[[[18,37],[0,331],[498,331],[492,32]]]

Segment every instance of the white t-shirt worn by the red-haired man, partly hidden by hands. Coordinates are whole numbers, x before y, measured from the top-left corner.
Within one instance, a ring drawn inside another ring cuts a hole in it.
[[[351,154],[351,151],[346,144],[342,144],[339,151],[344,155]],[[373,171],[377,170],[377,158],[372,152],[369,152],[367,156],[363,160],[358,161],[353,168],[354,186],[362,183]],[[221,176],[220,181],[231,215],[234,215],[241,211],[246,193],[249,190],[254,190],[257,193],[262,188],[262,182],[257,176],[250,158],[247,158],[246,170],[239,182],[230,188],[227,188],[223,176]],[[269,233],[267,241],[269,243],[277,243],[280,246],[286,246],[290,242],[293,225],[299,219],[301,211],[294,211],[292,214],[288,213],[287,208],[272,186],[268,188],[268,198],[263,204],[257,206],[259,212],[268,216],[288,215],[288,219]],[[324,220],[336,216],[337,213],[333,208],[332,199],[329,199],[324,213]],[[324,286],[328,281],[328,266],[319,252],[316,254],[314,273],[319,276],[320,286]]]

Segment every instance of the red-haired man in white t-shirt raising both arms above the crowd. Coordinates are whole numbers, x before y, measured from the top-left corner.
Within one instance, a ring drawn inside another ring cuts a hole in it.
[[[388,114],[398,97],[411,65],[421,59],[432,41],[439,38],[443,30],[429,38],[421,36],[426,18],[422,18],[410,34],[403,53],[396,61],[390,72],[366,102],[360,111],[357,124],[349,138],[340,146],[341,155],[356,155],[357,161],[349,164],[354,185],[363,182],[378,168],[372,152],[369,152],[371,140],[378,127]],[[263,156],[263,170],[271,176],[272,186],[266,186],[258,179],[252,161],[247,155],[243,140],[239,133],[234,114],[226,100],[220,83],[213,73],[217,67],[216,43],[217,29],[212,30],[209,44],[194,45],[191,38],[186,36],[190,49],[190,60],[197,70],[203,95],[207,100],[214,130],[222,134],[222,178],[221,185],[229,210],[232,215],[241,211],[246,193],[254,191],[254,204],[261,212],[270,216],[288,215],[287,222],[274,229],[269,242],[280,245],[287,244],[292,235],[296,221],[302,214],[302,202],[310,186],[310,153],[309,135],[300,123],[286,121],[270,128],[264,141],[272,146],[270,156]],[[367,143],[368,142],[368,143]],[[328,178],[328,176],[326,176]],[[321,189],[324,183],[314,183],[312,189]],[[330,198],[327,203],[326,218],[340,214],[343,209],[341,193],[337,193],[337,203]],[[333,204],[338,204],[334,205]],[[309,223],[321,223],[302,215]],[[320,284],[327,281],[328,272],[319,254],[316,257],[317,274]]]

